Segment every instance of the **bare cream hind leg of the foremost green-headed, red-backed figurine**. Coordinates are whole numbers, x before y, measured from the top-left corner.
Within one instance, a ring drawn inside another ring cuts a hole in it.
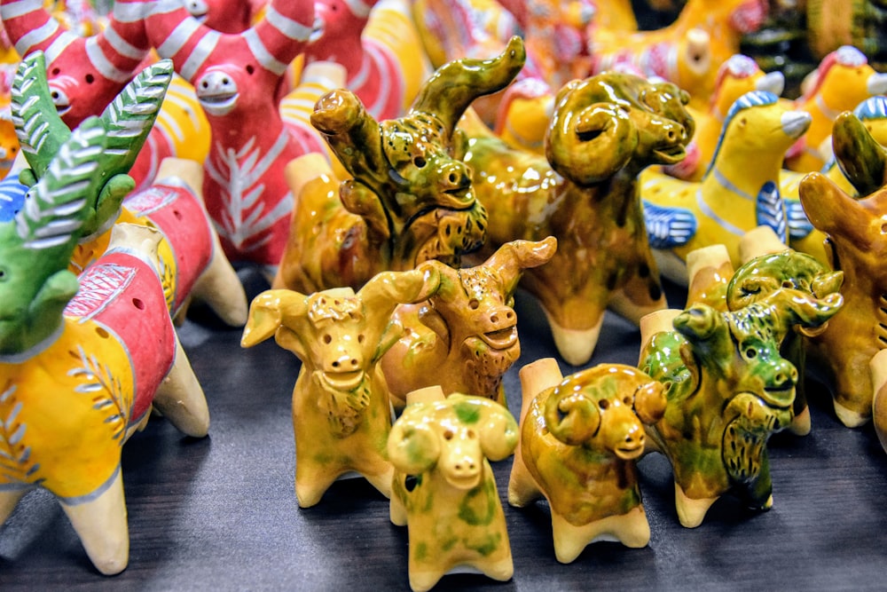
[[[176,363],[154,396],[154,407],[188,436],[203,438],[209,431],[209,407],[191,362],[176,336]]]

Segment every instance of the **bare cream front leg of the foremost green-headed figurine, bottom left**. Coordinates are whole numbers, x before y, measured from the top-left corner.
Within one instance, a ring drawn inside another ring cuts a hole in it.
[[[114,575],[126,569],[130,561],[130,529],[120,470],[97,498],[74,505],[62,502],[61,507],[99,572]]]

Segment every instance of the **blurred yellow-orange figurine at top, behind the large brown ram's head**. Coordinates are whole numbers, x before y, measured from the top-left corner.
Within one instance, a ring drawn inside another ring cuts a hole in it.
[[[678,19],[655,31],[595,28],[589,32],[593,73],[632,65],[690,93],[703,110],[715,88],[718,68],[740,52],[742,35],[760,28],[765,0],[687,0]]]

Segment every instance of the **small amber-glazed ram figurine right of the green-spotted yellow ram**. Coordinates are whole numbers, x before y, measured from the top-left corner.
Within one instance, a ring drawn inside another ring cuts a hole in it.
[[[594,541],[646,547],[650,525],[635,461],[644,425],[665,411],[663,385],[637,368],[600,364],[564,378],[552,358],[521,369],[521,439],[508,502],[545,497],[554,554],[572,563]]]

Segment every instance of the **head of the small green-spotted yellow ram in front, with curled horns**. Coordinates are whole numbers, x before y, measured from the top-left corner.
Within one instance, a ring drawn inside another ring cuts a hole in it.
[[[388,453],[397,471],[436,472],[459,490],[482,483],[485,459],[501,461],[517,446],[517,422],[506,407],[454,393],[407,405],[391,428]]]

